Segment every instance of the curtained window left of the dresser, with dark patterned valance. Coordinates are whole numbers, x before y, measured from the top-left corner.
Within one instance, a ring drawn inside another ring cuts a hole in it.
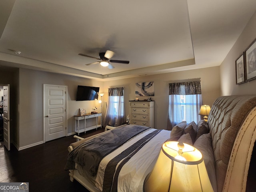
[[[109,88],[105,123],[109,126],[120,126],[125,121],[124,88]]]

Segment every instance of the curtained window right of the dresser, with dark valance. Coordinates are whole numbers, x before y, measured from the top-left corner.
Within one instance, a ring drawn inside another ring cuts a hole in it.
[[[202,119],[198,115],[202,103],[200,81],[170,83],[167,130],[182,121],[197,124]]]

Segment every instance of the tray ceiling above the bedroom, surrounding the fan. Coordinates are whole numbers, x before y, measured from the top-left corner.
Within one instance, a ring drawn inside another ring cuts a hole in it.
[[[255,11],[256,0],[1,0],[0,65],[98,80],[219,66]],[[106,50],[130,64],[78,55]]]

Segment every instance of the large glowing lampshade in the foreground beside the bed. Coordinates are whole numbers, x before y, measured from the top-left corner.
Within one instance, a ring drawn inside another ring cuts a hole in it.
[[[144,191],[213,192],[201,152],[188,144],[180,149],[178,143],[170,141],[162,145],[154,169],[144,182]]]

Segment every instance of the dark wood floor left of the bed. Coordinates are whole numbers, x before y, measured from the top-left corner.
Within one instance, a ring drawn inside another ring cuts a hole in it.
[[[80,134],[85,138],[104,129]],[[29,182],[30,192],[88,192],[80,183],[70,181],[64,170],[68,146],[75,142],[73,136],[63,137],[18,151],[14,146],[8,151],[0,146],[0,182]]]

